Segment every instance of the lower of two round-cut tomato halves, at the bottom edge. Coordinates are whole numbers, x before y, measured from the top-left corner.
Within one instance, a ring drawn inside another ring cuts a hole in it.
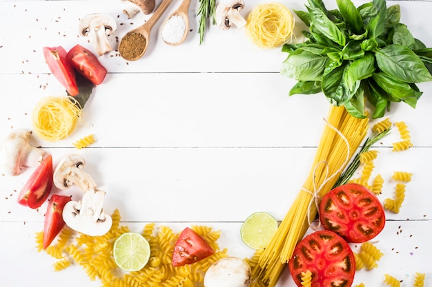
[[[302,286],[302,273],[312,273],[311,287],[353,284],[355,259],[346,241],[332,231],[315,231],[295,246],[288,262],[291,277]]]

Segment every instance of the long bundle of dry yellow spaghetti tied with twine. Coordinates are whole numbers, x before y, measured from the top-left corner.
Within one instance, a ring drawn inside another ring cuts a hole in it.
[[[354,118],[344,107],[331,105],[308,178],[270,244],[253,268],[255,286],[275,286],[284,265],[317,214],[315,200],[330,191],[368,131],[368,117]],[[254,285],[252,285],[254,286]]]

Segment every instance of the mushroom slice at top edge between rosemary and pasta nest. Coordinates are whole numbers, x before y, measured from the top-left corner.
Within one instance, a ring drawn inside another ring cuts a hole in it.
[[[246,25],[246,19],[240,14],[243,8],[243,0],[221,0],[215,11],[217,27],[228,30],[234,24],[237,28],[243,28]]]

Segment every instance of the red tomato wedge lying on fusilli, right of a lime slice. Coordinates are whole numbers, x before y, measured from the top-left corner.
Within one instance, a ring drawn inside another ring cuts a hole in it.
[[[199,262],[215,253],[203,237],[186,227],[175,242],[173,266],[184,266]]]

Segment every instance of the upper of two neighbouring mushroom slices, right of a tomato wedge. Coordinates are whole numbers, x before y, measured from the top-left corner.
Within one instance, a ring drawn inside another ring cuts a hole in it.
[[[84,192],[89,189],[96,189],[95,180],[83,170],[85,164],[86,160],[75,153],[63,158],[54,171],[55,186],[64,190],[75,184]]]

